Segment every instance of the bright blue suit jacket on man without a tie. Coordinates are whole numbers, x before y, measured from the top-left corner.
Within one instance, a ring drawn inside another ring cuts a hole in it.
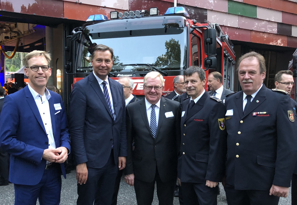
[[[56,147],[66,147],[70,150],[67,117],[62,98],[57,93],[49,92],[49,111]],[[55,110],[54,104],[57,103],[61,104],[62,109]],[[23,185],[38,184],[45,170],[46,160],[42,159],[42,154],[49,148],[49,140],[28,86],[6,96],[0,127],[1,149],[11,154],[9,181]],[[61,170],[66,178],[63,163]]]

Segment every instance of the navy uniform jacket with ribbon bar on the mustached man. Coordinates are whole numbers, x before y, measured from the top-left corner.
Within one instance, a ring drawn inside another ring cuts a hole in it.
[[[237,190],[290,187],[297,158],[290,97],[263,84],[244,115],[243,91],[228,96],[225,106],[226,183]]]

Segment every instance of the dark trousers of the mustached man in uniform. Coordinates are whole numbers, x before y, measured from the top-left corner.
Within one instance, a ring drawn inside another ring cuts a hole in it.
[[[269,190],[236,190],[229,184],[224,189],[228,205],[278,205],[279,197],[269,195]]]

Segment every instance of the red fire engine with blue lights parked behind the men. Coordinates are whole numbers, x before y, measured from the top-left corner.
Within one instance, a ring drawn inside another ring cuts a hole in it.
[[[131,77],[133,94],[138,98],[144,97],[143,79],[148,72],[161,73],[166,93],[174,89],[174,77],[183,75],[189,66],[202,67],[206,77],[213,71],[220,72],[224,87],[233,90],[235,52],[228,35],[218,24],[200,24],[189,19],[184,7],[168,8],[164,15],[159,15],[157,7],[124,13],[112,11],[110,19],[91,15],[72,34],[65,46],[66,106],[70,85],[93,72],[91,53],[98,44],[114,49],[109,77]]]

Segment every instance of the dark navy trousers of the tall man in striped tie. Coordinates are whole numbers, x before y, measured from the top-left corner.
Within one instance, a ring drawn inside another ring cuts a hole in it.
[[[98,159],[100,160],[100,159]],[[110,157],[104,167],[88,168],[88,179],[85,184],[77,184],[78,205],[108,205],[111,204],[114,193],[115,177],[118,173],[118,165],[114,164],[114,154]]]

